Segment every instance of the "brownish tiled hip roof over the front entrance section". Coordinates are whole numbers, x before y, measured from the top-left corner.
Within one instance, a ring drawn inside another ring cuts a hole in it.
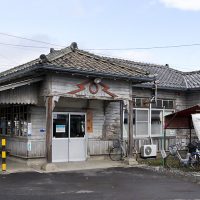
[[[52,50],[48,55],[41,55],[40,58],[28,62],[26,64],[17,66],[10,70],[0,73],[1,78],[9,75],[13,75],[17,72],[23,72],[30,69],[43,68],[48,66],[50,69],[56,67],[58,70],[69,70],[81,73],[91,73],[97,75],[114,76],[116,78],[130,78],[140,80],[153,80],[149,76],[149,72],[144,69],[129,66],[126,63],[116,63],[108,59],[104,59],[101,56],[91,54],[89,52],[79,50],[76,47],[76,43],[72,43],[65,49]]]

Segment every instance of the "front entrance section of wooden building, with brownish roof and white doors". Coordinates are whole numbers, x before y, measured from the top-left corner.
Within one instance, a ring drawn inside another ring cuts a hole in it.
[[[155,79],[76,43],[0,73],[0,138],[10,155],[48,162],[86,160],[108,153],[122,137],[128,113],[133,142],[132,85]],[[130,112],[131,111],[131,112]]]

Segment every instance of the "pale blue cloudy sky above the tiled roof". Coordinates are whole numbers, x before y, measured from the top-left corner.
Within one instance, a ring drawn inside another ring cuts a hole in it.
[[[200,44],[200,0],[1,0],[0,32],[80,49]],[[23,48],[2,43],[39,46]],[[0,34],[0,71],[50,47]],[[151,50],[95,50],[104,56],[200,70],[200,46]]]

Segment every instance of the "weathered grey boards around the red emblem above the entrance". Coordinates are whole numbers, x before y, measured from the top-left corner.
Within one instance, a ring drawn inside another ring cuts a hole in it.
[[[58,96],[67,96],[73,98],[87,98],[87,99],[130,99],[129,93],[129,82],[119,81],[119,80],[106,80],[102,79],[102,83],[106,84],[109,87],[109,91],[117,97],[113,98],[102,89],[104,87],[98,85],[99,90],[96,94],[91,94],[89,92],[89,83],[84,85],[84,89],[76,94],[68,94],[68,92],[79,89],[77,84],[83,83],[84,81],[89,80],[88,78],[78,78],[78,77],[69,77],[69,76],[61,76],[61,75],[53,75],[51,79],[49,78],[46,81],[49,81],[49,85],[51,87],[51,95]],[[92,80],[91,80],[92,81]],[[48,88],[48,87],[46,87]]]

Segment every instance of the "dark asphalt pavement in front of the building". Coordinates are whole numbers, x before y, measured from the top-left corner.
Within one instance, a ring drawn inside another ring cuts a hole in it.
[[[200,199],[200,185],[141,168],[0,175],[0,200]]]

